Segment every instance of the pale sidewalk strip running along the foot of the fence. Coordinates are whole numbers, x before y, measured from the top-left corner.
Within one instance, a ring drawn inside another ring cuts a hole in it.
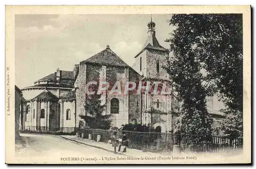
[[[114,153],[114,147],[110,143],[108,144],[108,143],[104,143],[104,142],[97,142],[94,140],[88,140],[88,139],[84,139],[84,138],[80,138],[80,137],[77,138],[76,136],[67,136],[66,135],[66,136],[60,136],[60,137],[71,140],[71,141],[75,141],[75,142],[78,142],[78,143],[81,143],[84,145],[93,146],[93,147],[96,147],[96,148],[104,150],[104,151]],[[117,147],[117,150],[118,150],[118,147]],[[123,146],[121,147],[121,151],[122,150],[123,150]],[[170,155],[172,155],[172,154],[167,154],[167,153],[143,152],[141,150],[129,149],[129,148],[127,148],[126,151],[127,152],[125,152],[125,153],[118,152],[118,154],[125,155],[125,156],[132,156],[132,157],[141,157],[141,156],[153,157],[153,156],[170,156]]]

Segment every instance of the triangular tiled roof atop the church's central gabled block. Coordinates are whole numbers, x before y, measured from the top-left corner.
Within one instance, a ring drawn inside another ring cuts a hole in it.
[[[109,47],[107,47],[105,50],[97,53],[96,55],[90,57],[89,59],[82,61],[82,63],[129,67]]]

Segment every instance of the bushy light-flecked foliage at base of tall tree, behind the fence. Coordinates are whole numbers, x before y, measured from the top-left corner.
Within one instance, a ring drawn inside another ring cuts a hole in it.
[[[187,89],[183,95],[184,100],[176,130],[186,134],[210,135],[212,119],[206,109],[202,86],[191,85]]]

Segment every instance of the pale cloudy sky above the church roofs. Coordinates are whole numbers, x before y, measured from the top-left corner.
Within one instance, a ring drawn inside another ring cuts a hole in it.
[[[170,14],[154,14],[156,37],[161,46],[173,27]],[[147,37],[150,14],[15,15],[15,84],[20,88],[74,65],[110,46],[132,66]]]

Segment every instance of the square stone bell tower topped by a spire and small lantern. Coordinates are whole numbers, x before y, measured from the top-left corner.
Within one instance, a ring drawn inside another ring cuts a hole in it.
[[[152,125],[155,129],[160,126],[162,131],[171,131],[172,115],[169,112],[172,108],[172,97],[168,93],[169,75],[163,68],[169,53],[157,40],[156,31],[159,30],[156,30],[156,25],[151,16],[145,32],[147,39],[141,51],[135,56],[133,68],[144,77],[142,81],[150,82],[151,85],[155,82],[158,84],[157,88],[154,86],[156,93],[152,89],[150,92],[141,93],[141,123]]]

